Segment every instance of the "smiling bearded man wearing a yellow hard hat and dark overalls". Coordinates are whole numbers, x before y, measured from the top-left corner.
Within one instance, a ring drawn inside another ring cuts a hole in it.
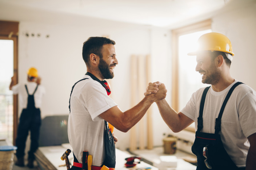
[[[198,43],[198,50],[188,55],[196,55],[196,71],[211,86],[193,93],[179,113],[165,100],[156,102],[160,114],[173,132],[195,122],[192,152],[197,156],[197,170],[255,170],[256,92],[231,77],[234,53],[225,35],[204,34]],[[158,85],[151,83],[145,95],[156,93]]]

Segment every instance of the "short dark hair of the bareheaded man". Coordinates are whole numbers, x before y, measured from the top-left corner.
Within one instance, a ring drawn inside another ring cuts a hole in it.
[[[91,54],[96,54],[102,58],[101,50],[105,44],[115,45],[116,42],[105,37],[89,37],[87,41],[84,42],[82,55],[87,66],[89,66],[89,56]]]

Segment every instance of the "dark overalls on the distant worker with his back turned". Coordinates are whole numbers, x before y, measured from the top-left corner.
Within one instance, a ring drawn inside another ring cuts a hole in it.
[[[41,126],[41,112],[40,109],[35,107],[34,94],[37,90],[38,85],[36,86],[35,91],[32,95],[28,93],[27,85],[25,88],[28,93],[28,103],[27,108],[23,109],[20,115],[20,121],[18,126],[17,138],[16,138],[16,156],[17,158],[24,156],[25,144],[28,136],[28,131],[30,131],[30,150],[28,152],[28,158],[34,160],[34,152],[39,146],[39,131]]]

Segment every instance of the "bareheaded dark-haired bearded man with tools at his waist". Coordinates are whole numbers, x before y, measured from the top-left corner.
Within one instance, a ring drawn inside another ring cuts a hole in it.
[[[115,42],[104,37],[90,37],[83,45],[83,60],[87,73],[71,91],[68,138],[74,154],[71,169],[81,169],[83,151],[92,155],[94,166],[115,168],[115,145],[108,124],[127,132],[143,117],[149,106],[164,99],[167,90],[146,96],[139,104],[125,112],[108,96],[111,92],[104,79],[114,77],[118,64]],[[107,134],[105,134],[107,132]],[[105,136],[104,136],[105,135]]]

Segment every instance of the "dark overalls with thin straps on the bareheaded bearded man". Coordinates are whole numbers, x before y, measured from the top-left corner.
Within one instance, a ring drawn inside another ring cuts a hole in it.
[[[100,84],[106,89],[106,91],[108,92],[108,94],[110,94],[110,89],[104,84],[104,82],[106,81],[100,81],[97,77],[95,77],[94,75],[92,75],[91,73],[87,72],[85,75],[88,75],[90,76],[93,80],[95,81],[98,81],[100,82]],[[71,94],[72,94],[72,91],[73,91],[73,88],[75,87],[75,85],[82,81],[82,80],[86,80],[88,78],[83,78],[79,81],[77,81],[73,87],[72,87],[72,90],[71,90]],[[69,112],[70,112],[70,99],[71,99],[71,94],[70,94],[70,98],[69,98]],[[116,149],[115,149],[115,142],[114,142],[114,139],[113,139],[113,136],[112,136],[112,133],[111,133],[111,130],[109,129],[108,127],[108,124],[106,121],[104,121],[105,123],[105,127],[106,127],[106,130],[104,132],[104,144],[105,144],[105,160],[103,162],[103,165],[107,166],[107,167],[111,167],[111,168],[115,168],[116,166]],[[90,154],[90,153],[89,153]],[[73,154],[74,156],[74,162],[78,162],[77,158],[75,157],[75,155]],[[103,166],[101,165],[101,166]],[[80,170],[81,168],[79,167],[75,167],[75,166],[72,166],[73,170]]]

